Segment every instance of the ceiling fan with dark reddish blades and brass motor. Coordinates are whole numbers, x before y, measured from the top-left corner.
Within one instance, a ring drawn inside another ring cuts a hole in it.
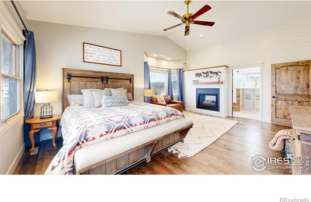
[[[191,3],[190,0],[185,0],[185,4],[187,5],[187,14],[183,15],[183,16],[179,16],[178,14],[176,14],[173,11],[169,11],[167,12],[168,14],[170,14],[171,16],[177,17],[178,19],[180,19],[182,21],[182,23],[174,25],[172,27],[166,28],[164,29],[164,31],[168,31],[171,30],[175,27],[178,27],[180,25],[186,24],[185,27],[185,36],[189,35],[190,32],[190,24],[195,24],[195,25],[204,25],[204,26],[213,26],[215,24],[215,22],[207,22],[207,21],[197,21],[194,20],[195,18],[197,18],[198,16],[201,16],[202,14],[206,13],[207,11],[209,11],[211,9],[211,7],[209,5],[205,5],[203,6],[200,10],[198,10],[195,14],[190,14],[189,13],[189,4]]]

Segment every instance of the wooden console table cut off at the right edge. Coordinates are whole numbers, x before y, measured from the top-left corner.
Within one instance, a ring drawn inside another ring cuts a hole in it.
[[[304,169],[293,169],[293,174],[311,174],[311,107],[290,106],[293,122],[291,155],[304,162]],[[294,165],[297,166],[295,162]]]

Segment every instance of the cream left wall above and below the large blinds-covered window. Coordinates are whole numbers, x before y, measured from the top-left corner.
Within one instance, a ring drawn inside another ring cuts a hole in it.
[[[3,4],[2,4],[3,3]],[[25,17],[24,11],[21,8],[19,1],[15,1],[20,15],[23,17],[27,26],[28,20]],[[3,9],[6,9],[5,11]],[[21,31],[24,29],[11,1],[0,2],[1,15],[8,12],[10,17],[5,20],[10,23],[12,29],[17,27],[16,34],[18,37],[22,36]],[[10,18],[10,19],[9,19]],[[13,25],[15,23],[15,25]],[[21,39],[23,40],[23,39]],[[21,78],[23,76],[21,75]],[[21,80],[22,82],[22,80]],[[21,89],[23,91],[23,89]],[[0,174],[12,174],[15,170],[17,163],[24,152],[24,132],[23,132],[23,93],[21,93],[21,113],[9,120],[7,123],[2,124],[0,127]]]

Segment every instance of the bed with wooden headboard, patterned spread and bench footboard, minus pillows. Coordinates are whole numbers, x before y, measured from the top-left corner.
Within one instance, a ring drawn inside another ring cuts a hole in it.
[[[176,109],[132,101],[111,112],[105,108],[69,107],[66,99],[67,94],[81,94],[82,89],[121,87],[134,98],[134,75],[63,69],[64,146],[46,174],[118,174],[142,161],[149,162],[153,155],[184,140],[193,123]],[[117,126],[110,130],[111,125]]]

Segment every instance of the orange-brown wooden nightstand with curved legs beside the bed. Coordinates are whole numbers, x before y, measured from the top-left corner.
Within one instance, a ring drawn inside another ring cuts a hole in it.
[[[31,131],[29,132],[29,137],[31,140],[32,147],[29,152],[32,152],[35,148],[35,132],[41,130],[41,128],[48,128],[49,130],[53,130],[53,146],[56,147],[55,137],[57,138],[57,131],[59,125],[56,124],[57,120],[60,120],[62,115],[56,114],[53,115],[52,118],[49,119],[40,119],[40,117],[30,118],[26,121],[27,124],[31,124]]]

